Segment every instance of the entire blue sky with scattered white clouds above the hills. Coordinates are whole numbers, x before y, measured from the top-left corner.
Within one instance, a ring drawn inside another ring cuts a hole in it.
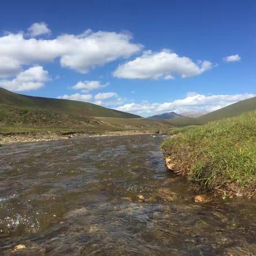
[[[1,4],[1,87],[142,116],[256,94],[255,1],[63,2]]]

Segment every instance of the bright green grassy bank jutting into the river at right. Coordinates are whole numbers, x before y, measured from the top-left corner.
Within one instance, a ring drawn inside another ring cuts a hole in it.
[[[198,188],[249,196],[256,191],[256,111],[190,127],[162,148],[174,171]]]

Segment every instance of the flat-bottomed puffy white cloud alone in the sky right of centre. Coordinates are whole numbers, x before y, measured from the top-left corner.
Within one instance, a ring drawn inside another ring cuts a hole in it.
[[[196,64],[187,57],[179,57],[170,50],[146,51],[135,60],[119,65],[114,76],[129,79],[173,79],[174,75],[190,77],[202,74],[213,67],[210,61]]]

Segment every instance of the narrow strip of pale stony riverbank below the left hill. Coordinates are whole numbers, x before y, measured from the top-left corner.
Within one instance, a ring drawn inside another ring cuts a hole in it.
[[[0,134],[0,146],[21,142],[38,142],[51,140],[67,140],[74,137],[88,136],[112,136],[112,135],[139,135],[152,134],[154,131],[143,130],[127,130],[127,131],[106,131],[106,132],[83,132],[83,131],[41,131],[41,132],[11,132]]]

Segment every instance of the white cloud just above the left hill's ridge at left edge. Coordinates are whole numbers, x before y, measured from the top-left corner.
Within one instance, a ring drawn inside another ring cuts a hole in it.
[[[0,86],[11,91],[30,91],[43,87],[49,80],[48,72],[41,66],[35,66],[20,72],[12,80],[0,80]]]

